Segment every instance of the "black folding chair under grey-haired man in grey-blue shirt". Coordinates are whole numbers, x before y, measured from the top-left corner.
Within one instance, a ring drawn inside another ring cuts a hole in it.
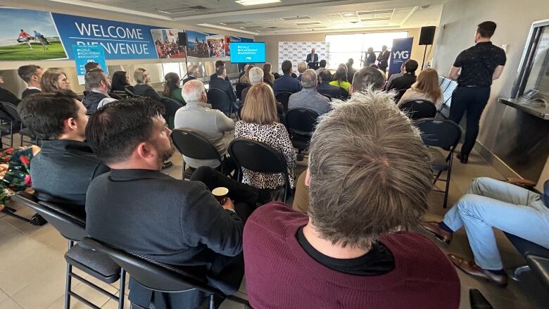
[[[286,127],[290,133],[291,144],[298,149],[298,154],[309,148],[318,117],[317,112],[307,108],[291,108],[286,114]]]

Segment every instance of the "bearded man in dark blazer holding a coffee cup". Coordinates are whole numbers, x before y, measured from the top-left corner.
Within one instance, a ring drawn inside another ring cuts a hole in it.
[[[244,272],[242,217],[260,194],[208,167],[196,170],[193,181],[160,172],[174,152],[162,113],[157,101],[128,98],[90,117],[87,140],[112,170],[89,186],[86,232],[158,262],[203,267],[215,287],[234,294]],[[221,205],[208,191],[215,187],[227,187],[236,202]],[[153,292],[130,279],[130,301],[140,308],[196,308],[205,296]]]

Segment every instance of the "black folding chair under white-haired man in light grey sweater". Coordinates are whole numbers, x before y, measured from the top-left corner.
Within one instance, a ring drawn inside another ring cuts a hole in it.
[[[227,170],[223,163],[225,155],[220,156],[217,149],[215,149],[215,146],[213,146],[208,139],[203,138],[200,135],[200,132],[187,127],[177,128],[172,131],[171,137],[175,148],[177,148],[183,156],[198,160],[217,159],[221,165],[221,172],[225,173]],[[186,166],[185,160],[183,160],[182,179],[185,179],[185,176],[190,178],[192,174],[190,171],[185,173]]]

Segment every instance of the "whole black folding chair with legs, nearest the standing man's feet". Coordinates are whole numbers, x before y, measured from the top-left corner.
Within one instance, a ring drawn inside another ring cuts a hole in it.
[[[448,189],[450,189],[450,176],[452,175],[453,154],[461,138],[461,128],[452,120],[436,118],[417,120],[416,125],[419,131],[422,132],[422,140],[427,146],[450,149],[448,156],[445,158],[440,150],[429,147],[429,151],[431,152],[431,168],[436,172],[433,186],[438,180],[446,182],[444,191],[438,190],[435,187],[435,191],[444,192],[443,208],[446,208]],[[448,171],[448,174],[446,175],[446,179],[442,179],[440,177],[445,170]]]

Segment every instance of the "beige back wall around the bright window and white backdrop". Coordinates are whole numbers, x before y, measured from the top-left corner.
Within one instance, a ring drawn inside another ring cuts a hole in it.
[[[424,53],[424,46],[419,46],[419,28],[414,29],[391,29],[391,30],[373,30],[373,31],[354,31],[354,32],[318,32],[318,33],[306,33],[306,34],[283,34],[283,35],[264,35],[255,37],[255,42],[265,42],[265,49],[267,50],[266,58],[267,62],[272,63],[272,68],[276,70],[278,68],[278,42],[305,42],[305,41],[324,41],[326,34],[350,34],[350,33],[370,33],[370,32],[400,32],[408,31],[408,37],[414,37],[414,44],[412,45],[412,59],[416,60],[419,65]],[[435,34],[436,37],[436,34]],[[436,44],[436,39],[434,44]],[[427,47],[427,52],[431,52],[425,57],[425,62],[432,58],[434,47]],[[358,63],[358,59],[355,59],[355,63]],[[282,72],[280,72],[282,73]]]

